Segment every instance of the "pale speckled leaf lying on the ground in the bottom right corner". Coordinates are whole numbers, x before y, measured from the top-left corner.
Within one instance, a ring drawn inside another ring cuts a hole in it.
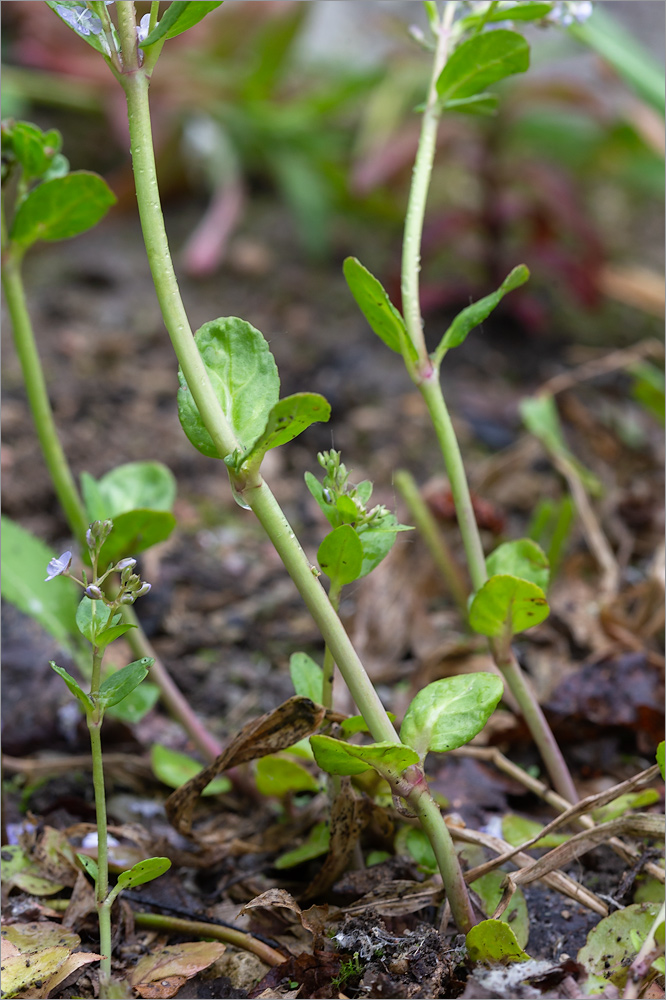
[[[628,967],[658,911],[657,903],[631,903],[604,917],[592,928],[577,958],[588,973],[587,980],[581,982],[585,996],[600,996],[610,984],[620,993],[623,991]],[[638,942],[632,940],[634,934],[638,935]]]

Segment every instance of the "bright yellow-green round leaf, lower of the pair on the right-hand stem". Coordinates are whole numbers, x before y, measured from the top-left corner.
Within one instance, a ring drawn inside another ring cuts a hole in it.
[[[550,613],[541,587],[517,576],[491,576],[474,595],[469,623],[491,637],[512,636],[539,625]]]

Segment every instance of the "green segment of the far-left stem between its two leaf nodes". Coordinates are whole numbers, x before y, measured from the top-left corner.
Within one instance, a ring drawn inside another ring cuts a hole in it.
[[[2,264],[2,287],[5,293],[7,309],[9,310],[14,344],[21,364],[28,403],[35,421],[35,428],[44,460],[58,500],[72,530],[77,538],[84,538],[88,527],[88,519],[83,504],[79,499],[67,459],[58,440],[46,381],[39,361],[39,353],[25,301],[21,278],[21,264],[11,252],[11,249],[7,250]]]

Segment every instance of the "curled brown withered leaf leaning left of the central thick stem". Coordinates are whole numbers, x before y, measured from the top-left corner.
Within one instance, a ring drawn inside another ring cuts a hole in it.
[[[192,836],[192,812],[206,785],[237,764],[265,757],[292,746],[321,725],[326,710],[309,698],[294,696],[278,708],[243,726],[212,764],[196,774],[166,800],[169,822],[179,833]]]

